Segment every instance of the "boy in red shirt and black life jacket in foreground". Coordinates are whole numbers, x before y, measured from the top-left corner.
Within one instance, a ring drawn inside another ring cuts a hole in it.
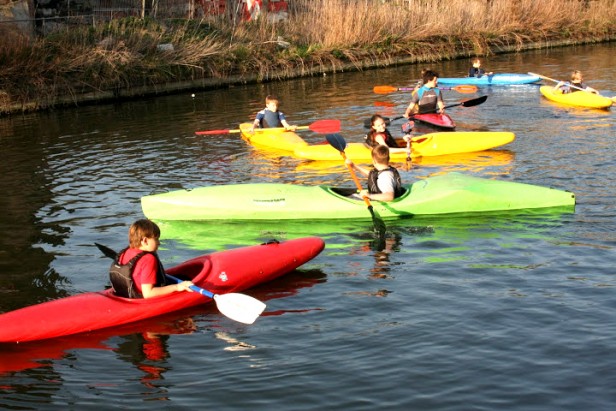
[[[128,230],[129,246],[118,253],[111,264],[109,278],[115,293],[128,298],[159,297],[191,291],[191,281],[167,285],[165,270],[156,250],[160,228],[151,220],[135,221]]]

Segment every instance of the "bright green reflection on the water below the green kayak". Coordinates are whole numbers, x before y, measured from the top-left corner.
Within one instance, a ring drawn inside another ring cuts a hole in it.
[[[494,213],[420,216],[412,219],[387,221],[387,235],[375,236],[372,221],[352,220],[283,220],[271,221],[157,221],[161,229],[163,247],[172,243],[196,250],[226,250],[273,239],[286,241],[306,236],[325,240],[326,254],[336,254],[350,248],[369,246],[380,249],[380,241],[393,236],[410,236],[415,241],[433,241],[446,237],[444,242],[461,242],[477,238],[494,241],[495,233],[507,233],[502,241],[517,238],[544,238],[554,235],[554,228],[562,224],[563,213],[572,207],[498,211]],[[366,210],[366,213],[368,211]],[[471,215],[469,215],[471,216]],[[423,238],[423,240],[420,240]],[[458,241],[455,240],[455,241]],[[445,252],[450,256],[450,249]],[[344,251],[348,252],[348,251]],[[434,258],[438,251],[434,250]]]

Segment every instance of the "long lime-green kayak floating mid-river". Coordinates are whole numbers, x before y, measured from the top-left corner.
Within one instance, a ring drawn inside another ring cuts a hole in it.
[[[569,191],[450,173],[405,186],[395,201],[373,201],[384,219],[418,215],[575,207]],[[355,190],[293,184],[233,184],[177,190],[141,198],[153,220],[371,219]]]

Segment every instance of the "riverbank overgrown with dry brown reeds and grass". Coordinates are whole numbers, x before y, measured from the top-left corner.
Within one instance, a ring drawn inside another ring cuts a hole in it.
[[[0,48],[0,113],[616,40],[611,0],[368,3],[298,0],[285,22],[233,26],[130,18],[13,42]]]

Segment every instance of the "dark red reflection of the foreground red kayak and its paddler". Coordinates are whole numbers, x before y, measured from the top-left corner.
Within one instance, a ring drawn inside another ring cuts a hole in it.
[[[293,271],[270,283],[255,287],[249,293],[261,301],[271,301],[297,295],[302,289],[325,281],[325,274],[319,270]],[[276,311],[266,309],[262,316],[278,316],[318,309],[318,307]],[[224,323],[231,321],[225,320],[214,304],[207,304],[94,332],[25,344],[0,344],[0,377],[27,369],[50,367],[53,364],[52,360],[71,360],[71,353],[75,350],[106,350],[113,351],[118,359],[140,370],[142,372],[140,380],[144,386],[155,388],[155,381],[163,379],[164,373],[172,368],[172,355],[168,349],[169,337],[198,332],[203,326],[200,325],[202,321],[196,321],[197,316],[209,318],[205,321],[205,327],[208,328],[220,328],[220,325],[216,325],[219,321]],[[224,331],[216,333],[217,338],[225,335]],[[227,337],[227,342],[230,338],[233,337]],[[227,349],[229,348],[225,348]]]

